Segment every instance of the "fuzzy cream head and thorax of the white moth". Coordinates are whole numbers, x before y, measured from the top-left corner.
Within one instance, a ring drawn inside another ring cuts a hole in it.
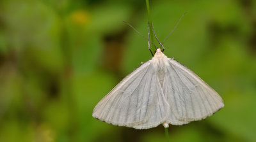
[[[170,65],[168,63],[168,57],[161,52],[161,49],[157,48],[156,53],[152,58],[152,64],[156,70],[161,87],[163,87],[164,76],[166,74],[167,67]]]

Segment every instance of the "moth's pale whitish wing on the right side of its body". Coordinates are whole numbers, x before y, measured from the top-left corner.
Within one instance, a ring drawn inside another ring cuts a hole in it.
[[[187,67],[169,59],[167,68],[163,92],[177,119],[201,120],[223,108],[219,94]]]

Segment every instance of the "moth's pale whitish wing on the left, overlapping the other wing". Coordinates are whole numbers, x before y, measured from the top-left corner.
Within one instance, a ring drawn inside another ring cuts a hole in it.
[[[148,129],[161,124],[170,108],[152,64],[145,62],[104,97],[93,110],[93,117],[104,122]],[[144,125],[143,125],[144,124]]]

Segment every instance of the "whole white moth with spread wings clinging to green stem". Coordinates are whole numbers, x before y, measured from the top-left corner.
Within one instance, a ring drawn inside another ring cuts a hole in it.
[[[95,106],[93,117],[113,125],[149,129],[202,120],[223,106],[217,92],[157,48],[151,60],[126,76]]]

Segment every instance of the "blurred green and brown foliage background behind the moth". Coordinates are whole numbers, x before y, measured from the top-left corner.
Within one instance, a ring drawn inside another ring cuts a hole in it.
[[[150,1],[164,53],[225,102],[199,122],[170,126],[170,141],[256,141],[256,1]],[[152,56],[145,1],[2,0],[0,141],[165,141],[162,125],[100,122],[94,106]]]

